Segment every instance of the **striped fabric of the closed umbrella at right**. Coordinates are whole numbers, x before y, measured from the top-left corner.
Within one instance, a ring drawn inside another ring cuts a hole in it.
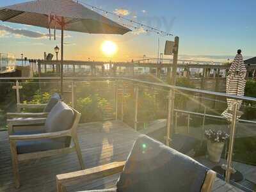
[[[244,65],[242,54],[237,54],[232,62],[227,76],[227,94],[244,95],[244,88],[246,84],[246,67]],[[228,108],[221,114],[230,122],[232,121],[232,111],[234,105],[237,103],[237,109],[241,108],[242,100],[227,99]],[[241,117],[241,113],[237,115],[237,120]]]

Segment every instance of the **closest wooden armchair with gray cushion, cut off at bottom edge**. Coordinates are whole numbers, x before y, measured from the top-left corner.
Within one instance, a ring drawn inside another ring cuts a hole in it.
[[[120,173],[116,188],[94,191],[156,192],[211,191],[216,173],[162,143],[141,136],[126,162],[56,176],[58,192],[77,182],[89,182]],[[92,191],[91,191],[92,192]]]

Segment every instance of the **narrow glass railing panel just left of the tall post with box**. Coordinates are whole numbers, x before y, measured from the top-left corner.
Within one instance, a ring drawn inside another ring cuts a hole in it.
[[[137,130],[165,143],[169,91],[147,84],[139,85]]]

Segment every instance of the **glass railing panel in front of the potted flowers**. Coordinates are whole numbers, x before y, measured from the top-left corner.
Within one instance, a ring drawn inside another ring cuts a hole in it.
[[[227,142],[219,142],[213,135],[220,131],[229,133],[228,122],[221,116],[226,108],[223,98],[176,90],[173,147],[211,169],[226,163]],[[211,136],[207,136],[209,132]],[[223,144],[218,157],[214,158],[211,143],[218,142]]]

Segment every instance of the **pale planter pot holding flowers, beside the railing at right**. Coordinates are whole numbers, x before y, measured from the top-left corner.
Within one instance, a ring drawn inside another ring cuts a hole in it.
[[[224,143],[212,143],[211,141],[207,141],[207,152],[210,161],[219,163],[223,148]]]

